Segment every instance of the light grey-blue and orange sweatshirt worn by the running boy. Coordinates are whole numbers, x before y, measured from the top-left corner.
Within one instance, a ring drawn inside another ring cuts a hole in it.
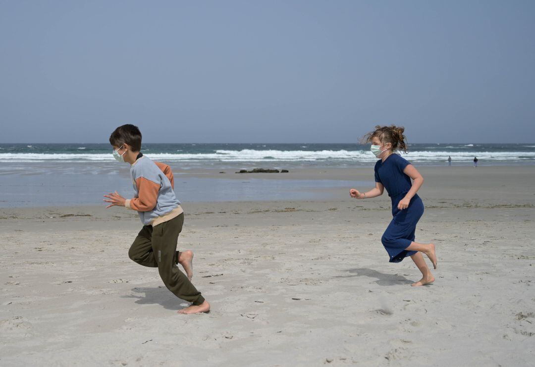
[[[171,167],[141,155],[131,165],[130,176],[135,195],[125,207],[137,210],[143,225],[156,226],[184,212],[174,194]]]

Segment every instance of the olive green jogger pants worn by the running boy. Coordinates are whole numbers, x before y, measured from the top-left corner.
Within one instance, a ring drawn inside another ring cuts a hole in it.
[[[199,305],[204,297],[175,265],[182,224],[184,213],[155,227],[143,226],[128,250],[128,257],[140,265],[157,267],[167,289],[180,299]]]

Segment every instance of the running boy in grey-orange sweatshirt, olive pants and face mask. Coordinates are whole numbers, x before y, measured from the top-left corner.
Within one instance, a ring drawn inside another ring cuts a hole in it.
[[[106,208],[117,205],[137,210],[143,228],[137,234],[128,251],[136,263],[157,267],[165,286],[175,296],[192,302],[180,314],[195,314],[210,311],[210,304],[193,286],[193,252],[177,251],[178,235],[184,223],[184,210],[174,194],[174,178],[171,168],[153,162],[141,150],[141,132],[134,125],[123,125],[110,136],[113,157],[130,164],[130,175],[135,190],[133,198],[125,198],[116,192],[104,195]],[[187,276],[177,264],[182,265]]]

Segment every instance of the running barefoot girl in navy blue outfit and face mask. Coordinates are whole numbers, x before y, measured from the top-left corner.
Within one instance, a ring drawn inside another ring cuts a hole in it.
[[[372,198],[383,195],[386,188],[392,199],[393,218],[381,242],[390,257],[389,262],[399,263],[407,256],[412,258],[423,276],[412,284],[415,287],[435,280],[422,253],[431,260],[434,269],[437,269],[437,256],[433,243],[414,242],[416,224],[424,213],[424,204],[416,192],[424,178],[412,164],[395,153],[399,149],[407,152],[404,130],[404,127],[394,125],[377,125],[374,131],[364,136],[365,142],[372,143],[371,152],[380,158],[375,164],[375,188],[365,193],[350,189],[349,195],[356,199]]]

